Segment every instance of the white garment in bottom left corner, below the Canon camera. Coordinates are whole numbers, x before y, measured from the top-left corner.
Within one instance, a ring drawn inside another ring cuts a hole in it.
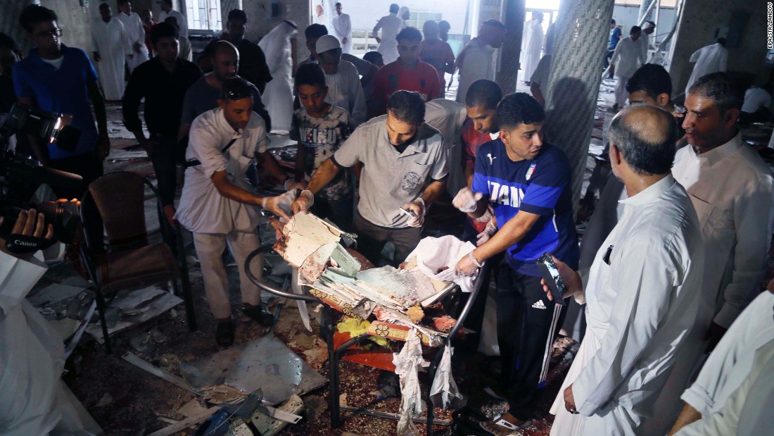
[[[99,434],[59,379],[61,336],[25,297],[46,265],[0,252],[0,434]]]

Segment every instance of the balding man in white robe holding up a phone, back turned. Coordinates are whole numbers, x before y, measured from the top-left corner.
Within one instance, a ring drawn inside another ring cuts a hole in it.
[[[551,407],[553,435],[656,434],[643,430],[653,403],[676,356],[694,345],[704,242],[690,197],[672,177],[675,136],[662,108],[633,106],[613,118],[611,166],[628,194],[621,220],[588,274],[554,260],[564,297],[586,304],[588,326]]]

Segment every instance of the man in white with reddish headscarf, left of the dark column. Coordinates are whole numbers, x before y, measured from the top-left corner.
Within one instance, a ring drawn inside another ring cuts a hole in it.
[[[478,30],[478,36],[457,57],[460,70],[460,84],[457,87],[457,101],[464,103],[467,88],[479,79],[495,80],[495,50],[505,40],[505,25],[496,19],[488,19]]]

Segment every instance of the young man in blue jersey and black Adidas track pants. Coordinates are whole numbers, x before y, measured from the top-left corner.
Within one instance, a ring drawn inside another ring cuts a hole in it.
[[[562,306],[546,297],[536,260],[544,252],[577,265],[572,214],[572,171],[563,151],[543,142],[543,107],[526,93],[510,94],[497,108],[500,136],[478,147],[471,189],[454,205],[478,218],[489,204],[498,232],[464,256],[457,271],[476,272],[505,252],[497,280],[497,331],[502,392],[509,412],[482,423],[493,434],[529,426],[546,380]],[[495,392],[497,389],[495,389]]]

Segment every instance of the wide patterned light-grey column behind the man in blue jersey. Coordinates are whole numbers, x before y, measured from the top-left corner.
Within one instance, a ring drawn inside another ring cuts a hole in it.
[[[567,153],[577,206],[597,108],[614,0],[564,1],[546,97],[546,140]]]

